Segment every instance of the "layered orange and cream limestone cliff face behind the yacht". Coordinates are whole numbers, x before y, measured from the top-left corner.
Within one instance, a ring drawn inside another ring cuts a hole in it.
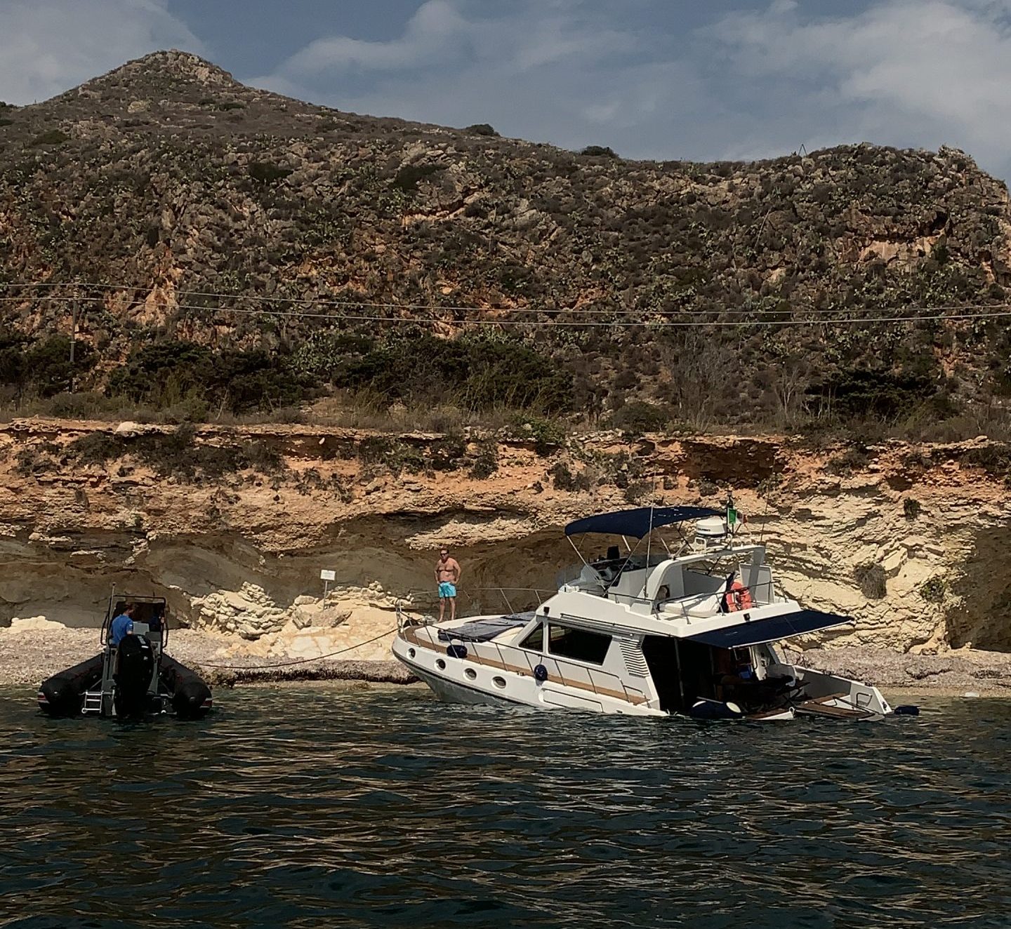
[[[398,597],[433,608],[442,543],[463,564],[462,609],[519,608],[519,588],[551,590],[575,560],[569,520],[649,499],[719,505],[733,490],[783,588],[857,620],[830,644],[1011,650],[1006,461],[984,439],[857,454],[723,436],[548,446],[15,421],[0,427],[0,624],[95,625],[115,584],[247,640],[349,617],[374,634]],[[867,566],[883,589],[861,589]],[[326,605],[321,568],[337,572]]]

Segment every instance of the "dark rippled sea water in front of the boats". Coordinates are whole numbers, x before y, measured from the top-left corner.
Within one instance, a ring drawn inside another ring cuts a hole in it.
[[[0,926],[1011,926],[1011,706],[699,725],[247,688],[0,691]]]

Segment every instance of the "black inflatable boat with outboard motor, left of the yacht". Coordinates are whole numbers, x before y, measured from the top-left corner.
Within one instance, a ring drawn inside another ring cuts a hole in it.
[[[124,619],[114,623],[117,617]],[[174,713],[198,719],[211,709],[210,687],[166,654],[168,641],[164,597],[113,592],[102,623],[102,651],[43,680],[39,708],[51,716]]]

